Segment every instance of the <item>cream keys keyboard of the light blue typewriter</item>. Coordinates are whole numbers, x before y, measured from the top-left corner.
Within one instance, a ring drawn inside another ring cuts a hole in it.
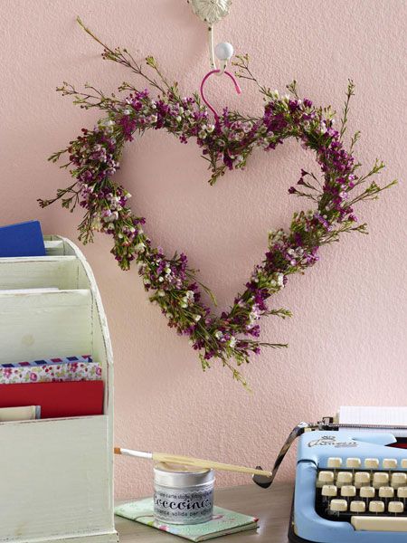
[[[398,471],[400,470],[400,471]],[[317,471],[316,511],[356,530],[407,532],[407,458],[329,458]]]

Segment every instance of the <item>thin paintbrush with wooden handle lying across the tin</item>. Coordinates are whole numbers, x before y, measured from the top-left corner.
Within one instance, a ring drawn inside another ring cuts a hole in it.
[[[167,454],[166,452],[132,451],[131,449],[121,449],[120,447],[115,447],[114,452],[115,454],[125,454],[126,456],[133,456],[136,458],[148,458],[150,460],[154,460],[155,462],[178,463],[187,466],[196,466],[197,468],[208,468],[212,470],[221,470],[224,472],[250,473],[251,475],[263,475],[264,477],[271,477],[271,472],[265,472],[264,470],[247,468],[246,466],[225,464],[222,462],[213,462],[212,460],[203,460],[201,458],[192,458],[191,456]]]

